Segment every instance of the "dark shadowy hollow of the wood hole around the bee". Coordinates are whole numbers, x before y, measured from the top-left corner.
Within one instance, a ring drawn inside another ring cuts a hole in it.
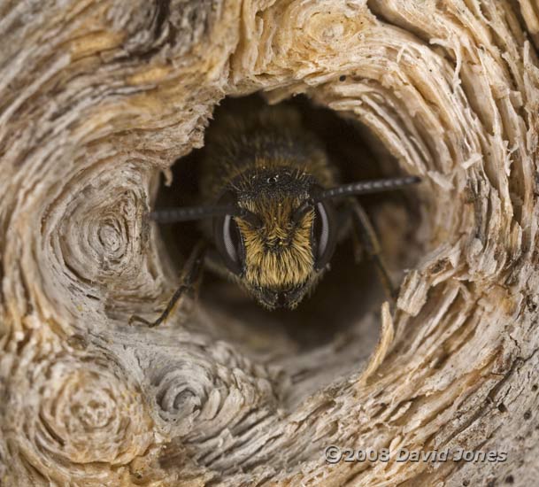
[[[263,103],[258,95],[227,98],[216,107],[213,119],[218,119],[223,113],[241,104],[252,106]],[[303,96],[282,103],[292,104],[302,113],[305,127],[318,135],[325,144],[329,158],[338,167],[341,182],[403,175],[397,162],[384,152],[381,143],[355,120],[345,119],[332,110],[315,106]],[[203,154],[204,148],[191,151],[174,164],[173,184],[170,187],[161,184],[155,203],[157,208],[201,203],[198,182],[199,163]],[[402,227],[405,231],[398,234],[402,241],[391,245],[391,248],[398,250],[398,255],[383,256],[389,263],[389,269],[395,271],[394,281],[398,285],[401,278],[399,268],[412,263],[406,249],[409,245],[413,246],[413,230],[420,218],[414,205],[413,189],[363,196],[359,201],[371,216],[381,240],[383,238],[378,228],[380,219],[376,218],[377,210],[382,205],[404,208],[407,221],[402,223]],[[187,258],[189,251],[202,236],[199,223],[160,225],[160,232],[173,261],[181,269],[183,259]],[[267,311],[237,284],[227,282],[208,270],[204,272],[200,300],[209,309],[217,308],[219,313],[243,322],[249,327],[249,333],[266,336],[270,341],[281,334],[295,344],[297,350],[306,351],[327,344],[336,334],[359,321],[363,314],[379,310],[384,292],[376,269],[366,259],[365,252],[361,262],[355,263],[350,236],[337,245],[331,270],[322,278],[312,295],[304,298],[295,310]],[[245,333],[244,328],[240,335]],[[245,342],[249,340],[245,338]],[[251,351],[267,352],[271,350],[272,344],[262,340],[257,344],[251,342],[249,346]]]

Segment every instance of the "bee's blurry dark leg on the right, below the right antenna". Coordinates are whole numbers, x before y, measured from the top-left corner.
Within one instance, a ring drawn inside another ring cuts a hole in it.
[[[373,224],[366,214],[365,209],[361,206],[356,198],[350,198],[349,207],[354,223],[354,235],[357,243],[361,243],[370,259],[373,259],[376,270],[380,276],[381,284],[386,291],[389,299],[395,302],[397,299],[397,289],[391,282],[388,268],[381,256],[381,246],[374,231]],[[356,251],[358,257],[358,251]]]

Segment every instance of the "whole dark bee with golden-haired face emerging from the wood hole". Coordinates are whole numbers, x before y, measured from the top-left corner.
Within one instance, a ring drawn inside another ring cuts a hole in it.
[[[166,320],[200,281],[204,264],[267,309],[293,309],[329,270],[335,244],[351,231],[373,258],[389,295],[395,295],[373,227],[355,196],[403,188],[419,177],[340,184],[323,143],[287,105],[216,120],[206,131],[201,164],[204,205],[156,209],[150,218],[200,220],[204,238],[158,319],[132,319],[150,327]]]

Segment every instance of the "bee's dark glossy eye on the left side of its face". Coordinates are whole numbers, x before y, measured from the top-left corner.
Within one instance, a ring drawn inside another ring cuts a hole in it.
[[[219,204],[229,203],[233,200],[233,195],[227,193],[220,198]],[[234,274],[242,274],[244,259],[243,238],[234,216],[224,215],[213,219],[213,238],[215,246],[228,270]]]

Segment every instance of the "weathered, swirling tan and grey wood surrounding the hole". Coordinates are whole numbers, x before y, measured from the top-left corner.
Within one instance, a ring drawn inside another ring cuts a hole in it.
[[[535,483],[535,0],[4,0],[0,35],[3,485]],[[397,309],[308,349],[227,305],[127,325],[177,282],[158,174],[256,90],[423,177]],[[329,465],[329,444],[507,460]]]

